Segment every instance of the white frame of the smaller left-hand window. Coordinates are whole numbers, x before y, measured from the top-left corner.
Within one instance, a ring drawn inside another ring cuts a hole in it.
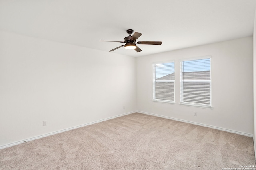
[[[156,80],[156,64],[163,64],[163,63],[174,63],[174,73],[175,73],[175,61],[162,61],[162,62],[156,62],[152,63],[152,68],[153,68],[153,99],[152,101],[154,102],[164,102],[164,103],[170,103],[170,104],[175,104],[175,78],[174,80]],[[161,99],[156,99],[156,82],[173,82],[174,83],[174,100],[161,100]]]

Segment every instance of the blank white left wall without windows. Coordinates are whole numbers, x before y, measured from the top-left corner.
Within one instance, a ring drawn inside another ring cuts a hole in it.
[[[0,31],[0,147],[134,111],[134,57]]]

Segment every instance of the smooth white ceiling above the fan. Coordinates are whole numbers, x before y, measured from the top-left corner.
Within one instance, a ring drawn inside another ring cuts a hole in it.
[[[256,0],[0,0],[0,29],[109,51],[124,41],[126,29],[137,41],[111,53],[142,56],[252,36]]]

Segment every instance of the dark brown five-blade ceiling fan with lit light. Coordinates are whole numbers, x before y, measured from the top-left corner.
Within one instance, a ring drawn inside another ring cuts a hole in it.
[[[141,49],[136,46],[136,44],[150,44],[150,45],[161,45],[162,42],[161,41],[138,41],[136,43],[136,40],[138,39],[138,37],[140,37],[142,34],[141,33],[138,33],[138,32],[135,32],[132,36],[131,34],[133,33],[133,30],[132,29],[128,29],[126,30],[126,32],[129,34],[128,37],[125,37],[124,38],[124,41],[107,41],[107,42],[118,42],[118,43],[125,43],[125,45],[121,45],[119,47],[116,47],[112,50],[110,50],[109,52],[111,51],[114,51],[116,49],[119,49],[120,47],[124,47],[125,49],[134,49],[135,51],[137,52],[140,52]]]

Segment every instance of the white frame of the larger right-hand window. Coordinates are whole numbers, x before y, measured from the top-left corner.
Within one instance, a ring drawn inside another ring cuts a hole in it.
[[[208,107],[212,108],[212,57],[211,56],[203,56],[203,57],[195,57],[195,58],[188,58],[188,59],[181,59],[180,60],[180,104],[187,105],[187,106],[196,106],[196,107]],[[200,59],[210,59],[210,80],[183,80],[182,74],[182,61],[192,61],[192,60],[200,60]],[[210,84],[210,104],[194,104],[190,102],[183,101],[183,83],[184,82],[198,82],[198,83],[209,83]]]

